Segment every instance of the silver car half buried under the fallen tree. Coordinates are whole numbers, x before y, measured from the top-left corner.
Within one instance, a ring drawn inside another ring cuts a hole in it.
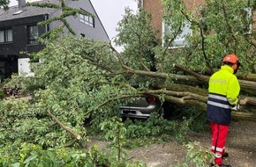
[[[170,110],[167,103],[162,104],[158,98],[136,98],[131,103],[120,107],[124,118],[148,119],[151,113],[160,113],[169,119]]]

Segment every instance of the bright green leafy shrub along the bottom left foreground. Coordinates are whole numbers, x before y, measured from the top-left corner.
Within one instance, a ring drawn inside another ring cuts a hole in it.
[[[1,166],[22,167],[58,167],[58,166],[96,166],[109,164],[109,155],[99,153],[96,146],[92,149],[55,148],[42,149],[39,145],[23,143],[20,154],[14,151],[8,154],[4,147],[0,149]],[[5,161],[7,159],[7,161]]]

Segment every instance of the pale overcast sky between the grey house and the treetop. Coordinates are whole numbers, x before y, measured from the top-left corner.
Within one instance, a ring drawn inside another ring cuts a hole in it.
[[[29,0],[29,2],[31,2],[31,0]],[[101,19],[102,25],[111,41],[117,35],[117,23],[123,18],[125,7],[137,11],[137,3],[135,0],[91,0],[91,3],[98,17]],[[17,4],[17,0],[11,0],[11,6]]]

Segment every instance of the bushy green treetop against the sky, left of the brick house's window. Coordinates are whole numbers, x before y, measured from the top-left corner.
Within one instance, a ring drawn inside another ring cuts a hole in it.
[[[152,69],[155,65],[154,47],[158,41],[155,38],[157,33],[151,25],[151,16],[145,11],[133,14],[126,9],[125,16],[118,25],[114,41],[117,45],[124,46],[124,64],[135,69]]]

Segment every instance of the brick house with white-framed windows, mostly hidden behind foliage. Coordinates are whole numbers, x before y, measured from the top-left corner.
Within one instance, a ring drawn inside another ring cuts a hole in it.
[[[195,11],[200,4],[204,4],[205,0],[183,0],[184,4],[186,4],[186,9],[189,11]],[[158,36],[157,39],[162,40],[164,33],[168,31],[168,25],[164,24],[164,21],[162,19],[162,0],[142,0],[141,2],[142,7],[145,11],[150,13],[152,15],[152,23],[154,26],[154,29],[157,30]],[[245,11],[248,9],[245,9]],[[250,25],[250,28],[256,29],[256,12],[252,13],[252,11],[248,11],[248,16],[252,17],[254,24]],[[184,45],[184,36],[186,34],[192,33],[192,30],[190,29],[189,25],[184,26],[183,32],[179,37],[177,37],[176,40],[174,40],[174,43],[176,46],[183,46]],[[163,41],[163,40],[162,40]],[[163,42],[162,42],[163,43]]]

